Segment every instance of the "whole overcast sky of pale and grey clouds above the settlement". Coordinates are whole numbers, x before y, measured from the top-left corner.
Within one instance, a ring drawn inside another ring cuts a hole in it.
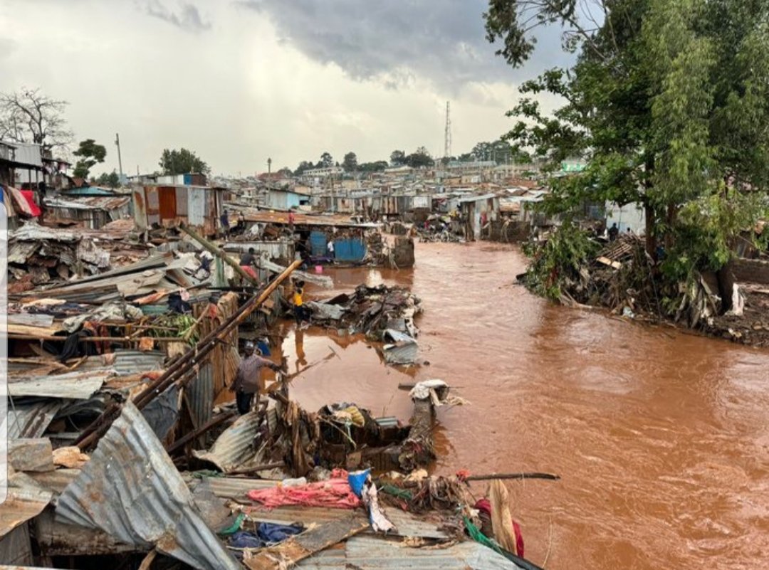
[[[76,140],[128,173],[187,147],[215,174],[295,168],[329,151],[454,154],[511,127],[518,82],[562,65],[558,31],[514,70],[484,38],[484,0],[2,0],[3,90],[69,102]]]

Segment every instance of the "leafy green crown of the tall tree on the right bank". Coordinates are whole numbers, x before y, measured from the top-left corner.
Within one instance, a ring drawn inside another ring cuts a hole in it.
[[[600,12],[601,17],[591,17]],[[569,157],[585,171],[552,181],[551,212],[586,200],[638,202],[647,252],[664,244],[664,276],[717,269],[740,229],[764,214],[769,181],[769,2],[767,0],[491,0],[489,41],[519,67],[534,50],[531,31],[564,26],[576,55],[521,85],[505,135],[514,151],[551,170]],[[565,104],[552,114],[536,97]],[[728,223],[713,223],[711,216]]]

